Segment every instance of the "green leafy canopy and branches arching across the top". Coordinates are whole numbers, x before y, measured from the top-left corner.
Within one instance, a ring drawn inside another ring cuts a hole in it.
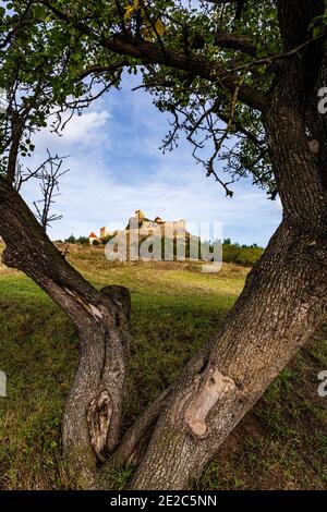
[[[186,3],[35,0],[15,2],[11,15],[12,3],[4,2],[0,87],[9,106],[1,117],[2,163],[20,126],[29,141],[56,111],[52,130],[61,133],[64,111],[80,111],[118,87],[126,69],[138,73],[140,87],[169,113],[165,148],[184,134],[227,194],[232,194],[229,182],[252,175],[275,197],[263,115],[276,70],[292,57],[280,42],[276,4],[202,1],[190,9]],[[306,45],[315,44],[314,35],[322,37],[316,26],[324,20],[313,21]]]

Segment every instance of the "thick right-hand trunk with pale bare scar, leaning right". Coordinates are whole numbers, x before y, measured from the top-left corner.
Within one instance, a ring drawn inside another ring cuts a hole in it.
[[[184,489],[267,386],[326,318],[325,167],[310,149],[296,73],[284,70],[265,123],[283,220],[221,331],[170,393],[132,481],[134,489]]]

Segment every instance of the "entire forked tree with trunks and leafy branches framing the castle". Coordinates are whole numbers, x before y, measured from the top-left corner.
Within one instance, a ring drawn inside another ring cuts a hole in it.
[[[0,87],[9,95],[0,234],[4,263],[32,277],[80,331],[81,361],[63,418],[68,464],[85,487],[106,488],[106,468],[133,463],[134,489],[185,488],[326,317],[327,123],[317,111],[327,70],[325,2],[202,0],[192,8],[180,0],[39,0],[14,7],[14,15],[2,14],[0,40]],[[87,107],[119,85],[124,68],[140,72],[141,86],[171,114],[165,147],[184,132],[228,195],[233,180],[252,175],[271,198],[279,195],[283,216],[222,328],[121,436],[129,293],[98,292],[70,267],[12,183],[26,134],[58,105],[60,130],[63,111]],[[92,95],[95,84],[102,89]]]

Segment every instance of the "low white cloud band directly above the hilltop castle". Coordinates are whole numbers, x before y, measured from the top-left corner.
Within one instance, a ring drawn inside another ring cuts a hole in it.
[[[63,195],[57,210],[64,220],[50,231],[53,239],[88,235],[101,225],[123,228],[135,209],[167,220],[185,218],[189,222],[222,222],[223,236],[241,243],[265,244],[279,222],[276,206],[265,193],[251,185],[237,184],[235,197],[227,198],[219,185],[205,179],[199,168],[159,168],[147,182],[121,183],[117,169],[109,170],[100,160],[84,155],[72,158],[71,172],[63,179]],[[175,176],[178,175],[178,180]]]

